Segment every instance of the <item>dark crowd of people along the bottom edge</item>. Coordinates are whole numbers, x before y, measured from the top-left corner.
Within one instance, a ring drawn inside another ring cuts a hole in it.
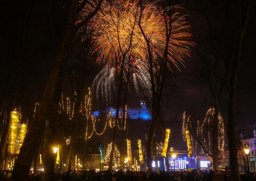
[[[11,171],[0,169],[0,181],[8,181]],[[230,181],[229,171],[160,171],[148,174],[147,171],[66,171],[55,172],[52,181]],[[241,181],[256,181],[256,173],[240,173]],[[28,181],[43,181],[43,171],[30,171]]]

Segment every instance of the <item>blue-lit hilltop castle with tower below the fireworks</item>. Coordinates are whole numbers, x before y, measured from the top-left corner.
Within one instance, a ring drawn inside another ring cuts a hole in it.
[[[105,109],[105,113],[110,113],[111,112],[111,116],[115,117],[116,115],[116,109],[113,109],[113,107],[107,107]],[[94,111],[93,112],[93,116],[94,117],[99,117],[100,111]],[[119,110],[119,116],[121,116],[123,114],[123,110],[120,109]],[[129,109],[129,107],[126,109],[126,117],[129,117],[130,119],[144,119],[144,120],[150,120],[152,119],[151,117],[151,111],[148,111],[146,109],[146,101],[145,100],[141,100],[140,101],[140,108],[137,109]]]

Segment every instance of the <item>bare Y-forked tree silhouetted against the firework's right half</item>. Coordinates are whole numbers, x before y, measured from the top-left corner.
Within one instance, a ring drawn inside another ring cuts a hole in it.
[[[160,110],[160,102],[163,93],[164,82],[166,78],[166,72],[168,67],[171,67],[171,64],[174,63],[177,65],[176,60],[179,58],[176,57],[175,53],[175,45],[174,50],[170,52],[169,48],[171,46],[171,41],[173,36],[175,36],[175,28],[172,27],[172,22],[177,18],[174,16],[174,4],[171,1],[166,1],[166,4],[157,3],[157,9],[159,10],[159,17],[163,20],[163,27],[161,27],[161,33],[163,36],[162,50],[161,53],[155,52],[158,50],[157,45],[154,43],[153,32],[148,32],[147,28],[143,26],[143,17],[146,14],[145,6],[143,6],[143,2],[140,1],[140,18],[138,25],[140,27],[141,33],[143,35],[145,41],[145,51],[147,56],[147,64],[149,67],[149,74],[151,80],[151,92],[152,92],[152,122],[149,130],[148,140],[147,140],[147,164],[148,164],[148,172],[152,172],[152,155],[151,155],[151,147],[152,141],[155,134],[155,130],[157,127],[157,122],[159,120],[159,110]],[[179,19],[179,18],[178,18]],[[154,32],[156,33],[156,32]],[[186,41],[183,41],[182,45],[186,44]],[[182,47],[182,46],[181,46]],[[179,47],[179,48],[181,48]],[[187,52],[185,48],[182,48],[182,52]],[[177,59],[176,59],[177,58]]]

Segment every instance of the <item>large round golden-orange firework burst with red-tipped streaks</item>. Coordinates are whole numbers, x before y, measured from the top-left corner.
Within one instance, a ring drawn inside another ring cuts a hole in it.
[[[175,7],[174,10],[178,9]],[[99,15],[95,18],[99,23],[101,33],[95,39],[97,43],[98,62],[104,61],[108,65],[120,63],[120,57],[123,52],[127,51],[129,46],[130,56],[127,55],[126,61],[139,64],[137,60],[148,62],[147,43],[138,26],[140,5],[137,1],[130,3],[128,1],[118,1],[113,4],[105,2]],[[156,69],[159,57],[163,57],[166,46],[166,24],[169,16],[166,15],[166,9],[161,9],[154,4],[146,4],[143,6],[141,16],[141,27],[150,41],[152,47],[152,56],[155,60]],[[183,63],[183,58],[189,56],[189,46],[194,46],[193,42],[187,41],[191,34],[187,33],[188,22],[185,16],[174,13],[171,16],[171,26],[167,24],[167,28],[171,29],[171,37],[168,44],[168,66]],[[131,56],[132,55],[132,56]],[[132,57],[132,59],[130,59]]]

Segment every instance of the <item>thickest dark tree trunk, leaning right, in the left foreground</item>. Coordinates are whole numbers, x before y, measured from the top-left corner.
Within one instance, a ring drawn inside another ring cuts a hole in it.
[[[70,2],[69,13],[67,16],[67,23],[63,32],[63,37],[60,43],[60,47],[55,58],[51,75],[48,79],[46,88],[44,90],[43,97],[40,101],[38,111],[35,113],[35,117],[27,131],[24,142],[20,148],[20,154],[15,162],[11,179],[12,181],[25,181],[29,176],[30,166],[35,154],[35,147],[40,141],[42,136],[41,128],[44,127],[45,121],[48,119],[48,115],[51,113],[52,108],[58,102],[54,102],[54,98],[59,97],[59,88],[62,83],[62,70],[63,64],[67,56],[69,44],[75,32],[75,20],[76,9],[78,2],[72,0]],[[37,135],[37,136],[35,136]]]

